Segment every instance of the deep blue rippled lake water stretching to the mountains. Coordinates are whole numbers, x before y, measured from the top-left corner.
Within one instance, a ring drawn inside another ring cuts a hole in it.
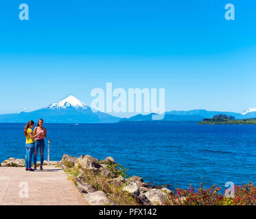
[[[0,162],[25,157],[24,124],[0,124]],[[45,124],[50,160],[108,156],[155,185],[198,188],[256,181],[256,125]],[[45,149],[47,159],[47,148]],[[39,155],[38,155],[39,160]]]

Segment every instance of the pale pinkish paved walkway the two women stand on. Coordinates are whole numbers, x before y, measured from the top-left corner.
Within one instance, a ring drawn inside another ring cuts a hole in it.
[[[61,168],[0,167],[0,205],[87,205]]]

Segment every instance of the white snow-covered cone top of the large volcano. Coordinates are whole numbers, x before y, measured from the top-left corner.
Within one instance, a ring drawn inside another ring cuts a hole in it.
[[[58,102],[58,103],[53,103],[47,107],[47,109],[69,109],[69,108],[75,108],[75,109],[82,109],[82,110],[87,110],[88,106],[79,101],[78,99],[75,98],[75,96],[68,96],[66,99]]]

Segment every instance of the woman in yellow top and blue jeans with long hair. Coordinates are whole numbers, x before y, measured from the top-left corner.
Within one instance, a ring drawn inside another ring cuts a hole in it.
[[[37,133],[34,136],[34,132],[32,131],[34,127],[34,121],[30,120],[30,122],[27,123],[27,125],[24,128],[24,135],[26,137],[26,157],[25,157],[25,167],[26,170],[34,171],[31,168],[32,165],[32,155],[34,153],[35,149],[35,138],[42,133]]]

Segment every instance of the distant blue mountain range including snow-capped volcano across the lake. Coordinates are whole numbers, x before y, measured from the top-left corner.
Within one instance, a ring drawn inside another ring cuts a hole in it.
[[[235,116],[236,119],[256,118],[256,108],[251,108],[243,113],[219,112],[207,110],[172,110],[165,112],[163,121],[201,121],[204,118],[213,118],[218,114]],[[104,112],[93,112],[91,107],[82,103],[75,96],[68,96],[58,103],[44,107],[33,112],[21,112],[19,114],[0,114],[0,123],[27,123],[29,120],[37,121],[43,118],[45,123],[117,123],[152,121],[152,115],[138,114],[130,118],[110,116]],[[157,120],[154,120],[157,121]]]

